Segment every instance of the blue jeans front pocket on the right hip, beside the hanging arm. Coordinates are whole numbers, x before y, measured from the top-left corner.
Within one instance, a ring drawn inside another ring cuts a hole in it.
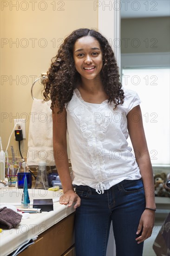
[[[142,179],[139,180],[126,180],[122,183],[123,191],[126,194],[137,193],[144,190]]]

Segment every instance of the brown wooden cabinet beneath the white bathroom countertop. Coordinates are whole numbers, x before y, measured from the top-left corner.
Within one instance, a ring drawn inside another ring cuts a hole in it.
[[[75,256],[74,214],[40,234],[19,256]]]

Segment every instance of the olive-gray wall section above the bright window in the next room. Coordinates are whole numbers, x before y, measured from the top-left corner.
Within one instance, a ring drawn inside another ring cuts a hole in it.
[[[122,19],[121,54],[170,52],[169,31],[169,17]]]

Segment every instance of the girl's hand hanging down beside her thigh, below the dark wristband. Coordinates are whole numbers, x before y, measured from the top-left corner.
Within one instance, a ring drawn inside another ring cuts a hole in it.
[[[155,212],[149,209],[145,209],[141,218],[140,222],[137,228],[137,235],[142,230],[142,235],[136,238],[137,243],[142,243],[144,240],[146,240],[148,237],[152,234],[152,229],[154,227],[155,222]]]

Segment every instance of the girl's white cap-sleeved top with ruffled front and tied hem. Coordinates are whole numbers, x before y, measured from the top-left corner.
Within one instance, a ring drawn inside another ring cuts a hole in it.
[[[128,146],[128,112],[140,104],[136,92],[124,88],[124,103],[113,110],[108,100],[85,102],[78,89],[65,104],[72,162],[72,184],[87,185],[101,194],[123,180],[141,178]]]

